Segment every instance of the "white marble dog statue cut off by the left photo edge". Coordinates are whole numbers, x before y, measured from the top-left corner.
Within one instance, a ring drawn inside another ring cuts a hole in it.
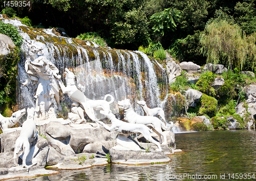
[[[20,118],[22,118],[23,115],[26,114],[26,109],[18,110],[16,112],[13,112],[12,116],[10,118],[3,117],[0,114],[0,128],[3,132],[12,132],[16,130],[21,130],[22,127],[12,128]]]

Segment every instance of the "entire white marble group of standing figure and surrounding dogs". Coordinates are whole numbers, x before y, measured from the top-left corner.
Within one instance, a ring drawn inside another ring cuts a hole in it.
[[[33,142],[36,140],[36,121],[42,120],[54,120],[56,119],[54,112],[54,99],[57,103],[57,108],[61,111],[59,90],[62,90],[63,94],[67,94],[73,101],[71,112],[69,112],[69,121],[72,124],[87,123],[84,118],[85,114],[97,124],[103,126],[108,131],[117,131],[120,134],[143,134],[144,138],[155,144],[158,149],[156,151],[162,151],[161,144],[166,145],[166,135],[163,134],[163,130],[170,130],[171,125],[168,127],[164,118],[164,111],[161,108],[150,109],[147,107],[145,101],[138,101],[137,103],[143,108],[146,116],[138,115],[131,105],[129,99],[118,101],[120,109],[124,110],[124,121],[118,120],[112,113],[110,104],[114,102],[112,95],[105,95],[102,100],[91,100],[87,98],[83,92],[76,86],[75,75],[68,68],[65,69],[66,86],[61,81],[61,75],[57,67],[42,55],[42,48],[36,46],[33,43],[29,43],[29,58],[25,62],[25,70],[27,73],[27,79],[23,83],[24,86],[28,85],[30,81],[33,84],[34,98],[36,99],[35,107],[27,109],[27,120],[23,123],[22,128],[11,128],[15,125],[19,119],[25,115],[26,109],[14,112],[12,117],[5,118],[0,115],[0,127],[3,132],[10,132],[20,130],[20,135],[16,140],[14,147],[13,163],[17,164],[17,153],[20,149],[23,150],[23,167],[26,165],[26,157],[29,154],[29,150]],[[107,101],[107,98],[110,100]],[[97,119],[95,110],[99,110],[98,114],[101,114],[108,118],[111,125],[105,124]],[[156,116],[160,116],[162,120]],[[159,142],[152,138],[151,132],[155,132],[159,136]]]

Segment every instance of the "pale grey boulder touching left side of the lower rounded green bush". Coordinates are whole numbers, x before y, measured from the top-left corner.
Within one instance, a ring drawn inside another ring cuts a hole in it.
[[[185,92],[186,104],[188,107],[196,107],[203,94],[196,89],[188,89]]]

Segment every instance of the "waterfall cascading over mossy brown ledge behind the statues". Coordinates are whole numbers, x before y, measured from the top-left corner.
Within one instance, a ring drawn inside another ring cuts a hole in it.
[[[137,100],[145,100],[151,108],[161,105],[158,82],[160,80],[168,84],[167,73],[159,63],[153,64],[144,53],[103,48],[92,41],[57,36],[52,29],[34,29],[12,20],[8,20],[8,23],[17,26],[20,35],[27,42],[35,43],[44,49],[44,56],[56,65],[59,75],[63,76],[65,67],[72,69],[78,87],[89,99],[97,100],[103,99],[105,94],[113,95],[114,113],[119,112],[116,102],[124,98],[131,99],[133,107],[141,115],[143,111],[135,103]],[[19,78],[21,82],[25,82],[26,74],[22,74],[26,73],[24,63],[28,57],[25,41],[22,50],[24,58],[19,63]],[[161,70],[159,74],[156,74],[156,66]],[[63,77],[62,81],[65,82]],[[32,84],[28,86],[32,87]],[[19,98],[23,101],[21,108],[34,102],[32,93],[28,99],[25,91],[27,87],[20,84],[19,88]],[[32,91],[30,88],[30,92]]]

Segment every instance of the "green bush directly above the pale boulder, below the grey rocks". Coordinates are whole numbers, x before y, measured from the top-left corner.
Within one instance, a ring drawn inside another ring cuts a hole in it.
[[[201,74],[201,77],[197,81],[196,85],[198,86],[198,90],[204,94],[209,96],[215,96],[215,89],[211,87],[211,84],[215,80],[215,75],[212,72],[205,72]]]

